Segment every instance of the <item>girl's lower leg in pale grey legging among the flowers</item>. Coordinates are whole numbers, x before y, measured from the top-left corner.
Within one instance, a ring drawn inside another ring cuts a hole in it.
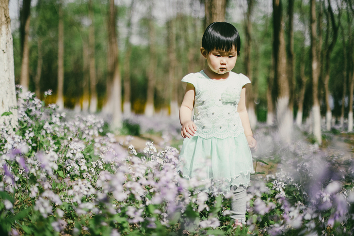
[[[238,220],[239,223],[246,223],[246,197],[247,191],[246,187],[231,186],[230,190],[234,194],[233,200],[230,204],[231,218]]]

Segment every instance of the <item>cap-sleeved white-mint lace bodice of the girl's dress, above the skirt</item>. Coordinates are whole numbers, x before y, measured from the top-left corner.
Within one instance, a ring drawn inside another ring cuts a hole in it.
[[[195,135],[224,139],[243,133],[237,105],[243,85],[251,82],[245,75],[230,72],[227,79],[220,81],[200,71],[186,75],[182,82],[191,83],[195,88]]]

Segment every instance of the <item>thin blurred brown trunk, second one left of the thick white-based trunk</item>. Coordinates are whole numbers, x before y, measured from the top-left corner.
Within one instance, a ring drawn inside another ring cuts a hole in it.
[[[89,75],[89,48],[85,39],[82,40],[82,71],[83,71],[83,94],[82,94],[82,111],[88,112],[90,103],[90,75]]]

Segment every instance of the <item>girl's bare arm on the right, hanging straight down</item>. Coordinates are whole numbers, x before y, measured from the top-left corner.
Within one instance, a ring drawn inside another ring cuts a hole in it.
[[[248,146],[251,151],[257,151],[257,141],[253,138],[253,133],[251,130],[250,120],[248,119],[248,113],[246,109],[246,88],[242,87],[241,98],[237,107],[237,112],[240,114],[241,123],[244,129],[244,134],[246,136]]]

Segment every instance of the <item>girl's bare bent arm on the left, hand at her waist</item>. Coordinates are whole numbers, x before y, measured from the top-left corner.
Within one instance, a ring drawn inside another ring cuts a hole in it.
[[[181,135],[183,138],[194,136],[197,127],[192,121],[192,110],[194,106],[195,89],[193,84],[187,83],[181,108],[179,109],[179,121],[182,125]]]

